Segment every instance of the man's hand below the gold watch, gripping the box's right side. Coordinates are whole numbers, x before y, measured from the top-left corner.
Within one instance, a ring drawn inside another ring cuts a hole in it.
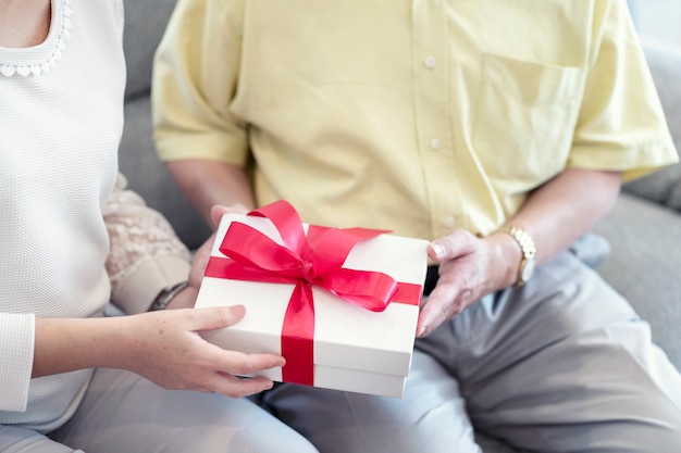
[[[482,297],[511,286],[521,260],[520,247],[509,235],[483,239],[463,229],[434,240],[428,253],[439,263],[439,278],[422,303],[418,337],[428,336]]]

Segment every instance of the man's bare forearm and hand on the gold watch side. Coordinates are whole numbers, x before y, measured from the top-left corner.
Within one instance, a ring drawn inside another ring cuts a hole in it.
[[[541,265],[567,250],[603,218],[612,207],[620,186],[618,172],[567,168],[535,189],[507,222],[531,229],[536,263]],[[419,337],[482,297],[513,285],[522,252],[505,232],[482,239],[459,229],[434,240],[429,255],[439,263],[439,280],[421,309]]]

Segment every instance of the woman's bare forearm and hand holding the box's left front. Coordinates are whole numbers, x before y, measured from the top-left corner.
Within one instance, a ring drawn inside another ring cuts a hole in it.
[[[200,336],[230,327],[245,314],[246,309],[236,305],[101,318],[37,318],[32,376],[121,368],[165,389],[233,398],[258,393],[271,388],[272,381],[237,376],[284,366],[284,357],[224,350]]]

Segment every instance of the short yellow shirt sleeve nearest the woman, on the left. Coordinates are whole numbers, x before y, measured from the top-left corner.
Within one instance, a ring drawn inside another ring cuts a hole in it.
[[[154,58],[152,116],[163,161],[245,166],[246,125],[230,113],[242,47],[242,1],[181,0]]]

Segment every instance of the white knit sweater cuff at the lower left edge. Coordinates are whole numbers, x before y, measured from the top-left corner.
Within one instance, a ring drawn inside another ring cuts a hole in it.
[[[34,345],[35,315],[0,313],[0,411],[26,411]]]

